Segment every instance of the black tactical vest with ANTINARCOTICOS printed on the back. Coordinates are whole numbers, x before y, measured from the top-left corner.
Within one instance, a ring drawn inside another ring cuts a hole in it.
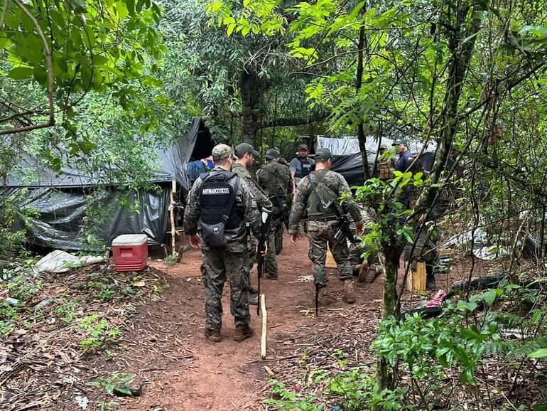
[[[233,230],[241,225],[241,219],[235,206],[236,193],[229,183],[231,178],[239,178],[232,171],[211,171],[202,176],[203,183],[200,189],[201,220],[206,224],[217,224],[222,216],[227,215],[226,230]],[[239,187],[239,184],[235,184]],[[232,201],[231,201],[232,200]],[[232,209],[228,210],[232,203]]]

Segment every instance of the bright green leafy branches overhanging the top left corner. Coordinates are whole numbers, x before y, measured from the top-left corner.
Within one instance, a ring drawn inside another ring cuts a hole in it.
[[[44,111],[53,110],[50,115],[55,115],[54,104],[61,110],[63,127],[74,137],[77,151],[89,154],[96,148],[77,136],[72,122],[75,106],[90,90],[111,91],[117,104],[134,110],[136,117],[151,112],[137,90],[139,85],[157,85],[151,75],[157,70],[153,62],[165,51],[154,28],[161,15],[157,4],[102,0],[6,4],[0,52],[9,62],[7,77],[23,84],[35,82],[47,91]]]

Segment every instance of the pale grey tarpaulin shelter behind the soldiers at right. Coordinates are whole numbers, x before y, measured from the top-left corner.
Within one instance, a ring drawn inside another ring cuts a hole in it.
[[[382,137],[380,144],[385,144],[388,148],[391,148],[393,142],[394,140],[392,139]],[[330,149],[330,152],[334,156],[332,171],[342,174],[350,186],[360,186],[364,183],[363,161],[357,137],[316,137],[314,146],[315,150],[320,147]],[[423,151],[422,156],[428,160],[428,165],[433,164],[433,152],[435,151],[436,146],[437,144],[435,144],[435,142],[430,142]],[[365,148],[367,150],[367,159],[371,174],[372,169],[374,168],[374,161],[377,159],[378,147],[378,139],[372,137],[367,138]],[[408,142],[408,149],[410,149],[413,154],[419,153],[422,147],[423,144]],[[422,158],[422,156],[420,158]]]

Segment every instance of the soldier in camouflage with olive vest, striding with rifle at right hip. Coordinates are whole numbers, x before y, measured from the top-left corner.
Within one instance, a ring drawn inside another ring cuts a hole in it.
[[[298,242],[298,221],[303,217],[305,210],[308,214],[308,237],[310,250],[308,257],[313,262],[313,278],[315,284],[320,287],[320,297],[328,302],[325,287],[327,275],[325,271],[325,258],[327,245],[334,257],[339,278],[344,282],[344,297],[348,303],[355,301],[353,289],[352,266],[348,260],[347,241],[337,241],[335,234],[339,230],[334,205],[340,196],[345,196],[342,203],[343,212],[349,212],[352,216],[357,233],[362,233],[363,221],[359,208],[352,202],[352,192],[341,174],[330,171],[332,166],[332,154],[329,149],[320,148],[315,152],[315,171],[300,180],[298,190],[293,201],[291,218],[289,220],[288,233],[291,241]]]

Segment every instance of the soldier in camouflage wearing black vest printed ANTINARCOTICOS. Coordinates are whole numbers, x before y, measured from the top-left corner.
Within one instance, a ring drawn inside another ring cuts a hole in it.
[[[205,286],[205,336],[210,341],[220,341],[222,289],[226,278],[229,277],[230,311],[236,324],[234,340],[243,341],[254,333],[249,326],[251,317],[246,285],[248,255],[245,221],[249,222],[253,233],[259,235],[260,215],[256,207],[253,206],[251,191],[247,183],[229,171],[233,161],[232,149],[225,144],[218,144],[212,149],[212,158],[215,168],[209,175],[222,177],[224,174],[227,178],[224,184],[229,184],[232,187],[230,201],[234,196],[231,209],[224,211],[229,215],[229,222],[224,230],[224,246],[210,247],[197,235],[200,219],[203,221],[205,215],[215,215],[208,209],[212,208],[211,203],[215,204],[215,198],[208,203],[203,199],[205,189],[202,190],[202,186],[207,184],[204,182],[205,176],[197,178],[190,191],[184,213],[184,230],[190,235],[190,245],[195,248],[201,245],[202,250],[202,281]],[[209,186],[207,189],[210,190],[210,193],[225,194],[223,190],[228,191],[228,188],[218,188],[215,191],[214,187],[209,188]],[[218,198],[224,199],[225,196]]]

